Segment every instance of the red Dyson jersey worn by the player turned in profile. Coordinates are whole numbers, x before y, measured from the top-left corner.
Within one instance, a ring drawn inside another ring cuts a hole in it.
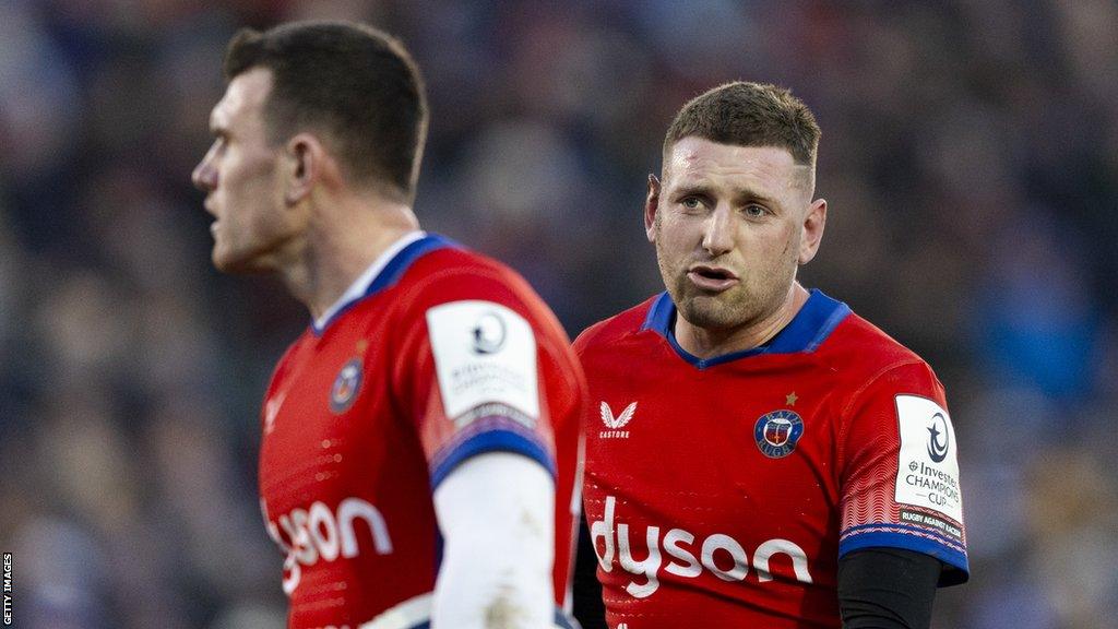
[[[567,627],[586,385],[559,322],[514,272],[434,235],[398,243],[354,289],[288,348],[263,409],[260,505],[286,554],[290,627],[427,627],[433,491],[491,451],[555,478]]]

